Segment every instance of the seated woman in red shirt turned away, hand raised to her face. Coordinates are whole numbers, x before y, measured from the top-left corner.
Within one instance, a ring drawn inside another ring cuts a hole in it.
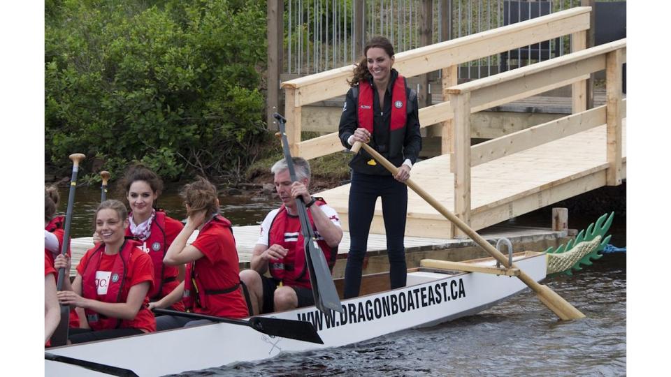
[[[231,221],[219,214],[217,188],[198,177],[180,193],[187,207],[187,224],[168,249],[164,263],[188,263],[186,279],[172,293],[150,307],[165,308],[183,297],[189,311],[228,318],[249,314],[240,288],[240,267]],[[198,229],[196,240],[187,240]],[[181,327],[191,321],[176,316],[157,317],[159,330]]]

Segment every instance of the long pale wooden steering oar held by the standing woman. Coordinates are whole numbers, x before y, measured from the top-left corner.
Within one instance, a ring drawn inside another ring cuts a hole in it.
[[[363,149],[366,149],[368,154],[370,156],[373,156],[375,160],[379,163],[381,163],[384,168],[389,170],[391,174],[396,175],[396,172],[398,168],[394,166],[394,164],[390,163],[387,161],[387,158],[384,158],[381,154],[379,154],[375,149],[370,147],[369,145],[363,144],[361,142],[358,142],[361,144],[361,147]],[[356,143],[352,146],[352,149],[356,146]],[[459,217],[455,216],[452,214],[452,212],[449,212],[447,208],[445,208],[443,205],[441,205],[437,200],[435,200],[431,195],[429,195],[426,191],[424,191],[423,188],[419,187],[416,183],[412,181],[412,179],[407,179],[405,181],[405,184],[412,188],[412,191],[417,193],[417,195],[421,196],[422,199],[426,200],[428,204],[431,205],[431,207],[435,208],[442,216],[445,216],[449,221],[452,221],[454,225],[457,226],[457,228],[461,229],[468,237],[470,237],[473,241],[475,241],[476,244],[478,244],[482,249],[484,249],[489,255],[491,255],[493,258],[498,260],[501,264],[503,264],[507,268],[518,268],[516,265],[508,263],[508,259],[503,256],[503,254],[496,250],[494,246],[491,246],[489,242],[486,242],[484,238],[482,238],[480,235],[475,232],[475,230],[472,230],[466,223],[461,221]],[[576,309],[574,306],[569,304],[566,300],[564,300],[560,295],[558,295],[554,290],[551,290],[548,286],[541,285],[537,283],[537,281],[533,280],[531,276],[528,276],[524,271],[520,270],[519,276],[517,276],[521,281],[523,281],[529,288],[531,288],[538,298],[540,298],[540,301],[545,304],[551,311],[554,311],[554,313],[561,318],[562,320],[572,320],[572,319],[579,319],[579,318],[584,318],[585,315],[581,313],[578,309]]]

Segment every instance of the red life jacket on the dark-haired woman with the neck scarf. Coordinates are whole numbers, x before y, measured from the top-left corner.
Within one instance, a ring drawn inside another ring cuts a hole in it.
[[[129,217],[132,215],[131,212]],[[163,258],[165,258],[168,252],[168,242],[166,239],[166,213],[160,209],[156,210],[156,216],[152,221],[150,233],[149,238],[145,239],[143,244],[140,244],[140,249],[149,254],[152,258],[152,263],[154,263],[154,288],[147,295],[151,300],[159,300],[163,297],[161,291],[163,290],[164,283],[176,281],[178,275],[177,267],[166,266],[163,263]],[[130,227],[126,229],[126,235],[133,236]],[[178,285],[179,283],[174,284],[174,286]],[[173,288],[175,288],[174,286]]]

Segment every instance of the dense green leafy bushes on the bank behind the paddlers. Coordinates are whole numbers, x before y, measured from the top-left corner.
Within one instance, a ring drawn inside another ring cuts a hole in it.
[[[254,0],[47,1],[47,162],[240,171],[266,137],[265,17]]]

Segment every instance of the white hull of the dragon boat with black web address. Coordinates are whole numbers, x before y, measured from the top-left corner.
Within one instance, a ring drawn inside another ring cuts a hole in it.
[[[545,277],[545,258],[543,253],[533,253],[515,263],[540,281]],[[509,276],[413,272],[408,274],[404,288],[343,300],[344,313],[334,313],[330,320],[315,306],[268,315],[312,322],[324,345],[270,337],[247,326],[212,323],[50,348],[48,352],[131,369],[139,376],[178,374],[264,360],[280,352],[345,346],[412,327],[435,325],[487,309],[524,288],[524,283]],[[45,360],[45,376],[91,376],[93,373],[82,367]]]

